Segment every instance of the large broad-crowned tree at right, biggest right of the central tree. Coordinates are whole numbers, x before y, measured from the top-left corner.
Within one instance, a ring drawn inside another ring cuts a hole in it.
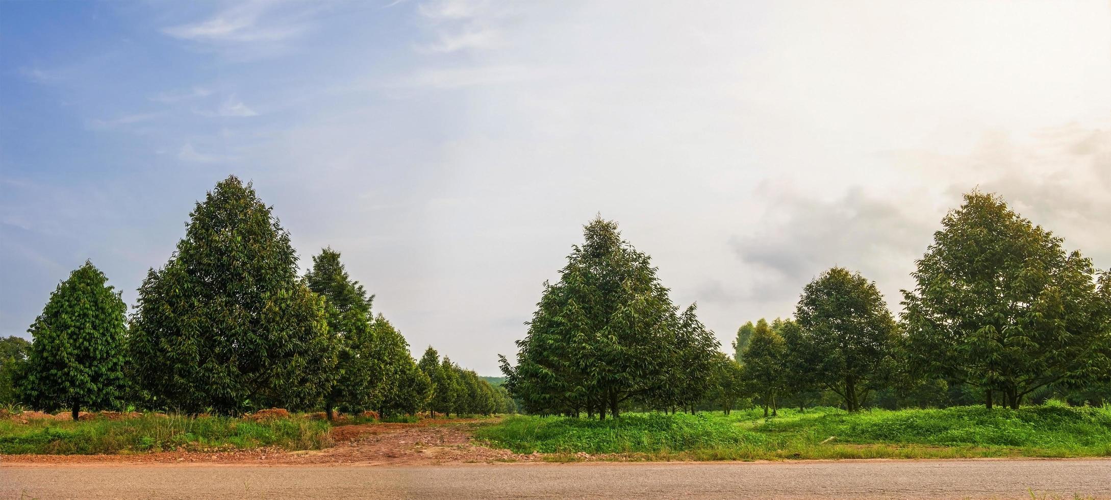
[[[903,291],[912,360],[1018,408],[1049,384],[1111,380],[1111,287],[1079,252],[971,192],[942,219]]]

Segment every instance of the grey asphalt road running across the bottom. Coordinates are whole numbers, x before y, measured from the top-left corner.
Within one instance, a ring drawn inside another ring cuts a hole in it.
[[[1111,460],[359,466],[3,466],[0,497],[1111,498]]]

